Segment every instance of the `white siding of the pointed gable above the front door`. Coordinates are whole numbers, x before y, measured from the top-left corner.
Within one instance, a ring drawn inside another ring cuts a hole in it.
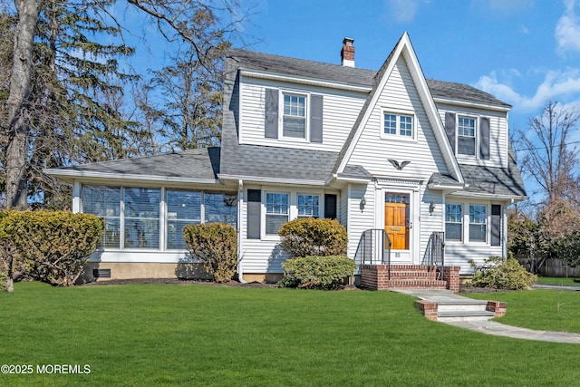
[[[382,136],[384,111],[414,112],[415,140]],[[411,161],[403,170],[394,169],[389,159]],[[349,164],[362,165],[372,174],[392,178],[428,180],[433,172],[448,173],[415,84],[405,61],[400,58],[376,104]]]

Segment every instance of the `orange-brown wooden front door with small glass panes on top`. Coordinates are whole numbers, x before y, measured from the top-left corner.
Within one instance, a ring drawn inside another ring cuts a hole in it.
[[[409,249],[409,194],[384,194],[384,229],[391,238],[391,250]]]

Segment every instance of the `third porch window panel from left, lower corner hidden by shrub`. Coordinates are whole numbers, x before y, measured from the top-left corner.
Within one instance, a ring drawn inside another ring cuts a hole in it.
[[[167,248],[185,249],[183,227],[201,223],[201,192],[167,190]]]

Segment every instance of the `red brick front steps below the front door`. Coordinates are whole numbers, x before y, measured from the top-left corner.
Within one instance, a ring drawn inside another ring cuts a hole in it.
[[[437,266],[424,265],[362,265],[361,285],[372,290],[388,289],[449,289],[459,293],[459,266],[445,266],[443,279],[438,279]]]

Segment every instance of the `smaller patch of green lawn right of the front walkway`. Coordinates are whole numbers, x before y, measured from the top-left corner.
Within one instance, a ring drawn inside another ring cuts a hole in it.
[[[506,302],[507,313],[497,320],[499,323],[580,334],[580,292],[536,289],[467,296]]]

